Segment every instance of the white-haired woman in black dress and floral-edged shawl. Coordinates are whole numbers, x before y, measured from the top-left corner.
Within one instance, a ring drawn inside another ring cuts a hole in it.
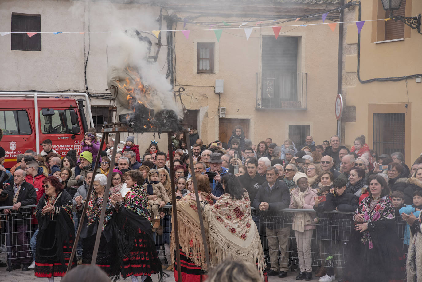
[[[95,264],[105,271],[108,276],[114,276],[111,264],[114,261],[114,245],[111,244],[112,230],[109,224],[111,216],[114,213],[114,208],[111,203],[111,194],[108,192],[106,196],[104,194],[107,184],[107,177],[104,174],[95,175],[94,179],[94,190],[91,192],[89,198],[87,214],[84,218],[84,223],[81,230],[82,238],[82,263],[91,264],[92,253],[94,251],[95,238],[97,237],[98,221],[100,220],[101,208],[103,207],[103,199],[106,197],[107,207],[106,215],[103,222],[103,232],[101,232],[100,244],[98,247],[97,261]],[[75,198],[76,208],[78,212],[82,212],[86,200],[82,200],[82,196],[79,195]]]

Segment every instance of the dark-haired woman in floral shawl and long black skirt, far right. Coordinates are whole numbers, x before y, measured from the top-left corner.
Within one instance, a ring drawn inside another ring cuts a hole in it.
[[[353,216],[344,281],[402,281],[406,257],[395,226],[390,188],[381,175],[370,177],[369,193]]]

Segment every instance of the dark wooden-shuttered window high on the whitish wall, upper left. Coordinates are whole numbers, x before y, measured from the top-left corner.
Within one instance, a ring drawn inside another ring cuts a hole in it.
[[[41,16],[12,13],[11,49],[41,51]],[[16,32],[16,33],[14,33]],[[29,37],[27,32],[37,34]]]

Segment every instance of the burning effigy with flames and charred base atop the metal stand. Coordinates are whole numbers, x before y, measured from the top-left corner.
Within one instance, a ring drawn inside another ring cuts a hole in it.
[[[174,101],[171,91],[157,90],[152,85],[160,81],[147,82],[143,77],[142,66],[146,62],[133,61],[133,56],[126,57],[124,62],[110,66],[107,73],[107,85],[114,94],[119,121],[127,123],[136,133],[183,130],[176,102],[169,104]]]

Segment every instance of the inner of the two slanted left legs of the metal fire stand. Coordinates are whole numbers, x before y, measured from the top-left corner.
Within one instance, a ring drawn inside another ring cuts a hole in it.
[[[104,132],[103,140],[107,140],[107,139],[108,139],[108,133]],[[119,141],[120,141],[120,132],[117,132],[110,163],[114,162],[114,159],[116,158],[117,146],[119,145]],[[95,237],[94,251],[92,252],[92,260],[91,260],[92,266],[95,266],[95,263],[97,262],[98,247],[100,246],[101,233],[103,232],[104,217],[106,216],[106,208],[107,208],[107,202],[108,202],[108,192],[110,192],[111,178],[113,178],[113,169],[112,168],[113,167],[109,167],[109,169],[108,169],[107,185],[106,185],[106,189],[104,190],[103,205],[101,206],[100,221],[98,222],[97,235]],[[94,182],[94,179],[92,179],[91,182]]]

